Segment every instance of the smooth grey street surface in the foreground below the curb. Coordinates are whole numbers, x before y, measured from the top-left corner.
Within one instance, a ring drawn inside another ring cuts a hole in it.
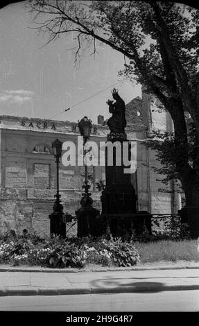
[[[0,311],[199,311],[199,290],[5,296]]]

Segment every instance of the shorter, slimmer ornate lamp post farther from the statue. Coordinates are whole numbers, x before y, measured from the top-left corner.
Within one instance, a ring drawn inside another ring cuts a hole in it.
[[[66,237],[66,224],[63,221],[64,212],[63,206],[60,203],[60,187],[59,187],[59,164],[60,164],[60,157],[62,156],[62,141],[59,139],[55,139],[52,143],[52,152],[55,157],[56,163],[56,177],[57,177],[57,191],[55,194],[55,203],[53,205],[53,213],[49,215],[51,220],[50,225],[50,233],[59,235],[60,237]]]

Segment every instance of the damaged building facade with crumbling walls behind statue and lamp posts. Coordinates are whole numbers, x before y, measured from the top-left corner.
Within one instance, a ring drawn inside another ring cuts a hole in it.
[[[81,117],[80,117],[81,119]],[[126,133],[137,142],[137,171],[132,183],[137,192],[137,209],[151,214],[175,213],[181,208],[180,194],[159,191],[164,185],[151,169],[159,166],[155,152],[144,146],[151,130],[172,131],[171,117],[150,94],[134,98],[126,105]],[[103,116],[92,126],[91,141],[106,141],[109,133]],[[10,228],[27,228],[49,234],[49,214],[53,211],[56,191],[55,158],[51,143],[55,139],[77,144],[77,122],[29,119],[0,116],[0,232]],[[76,152],[76,156],[80,153]],[[94,207],[101,209],[101,187],[105,182],[105,166],[89,166]],[[60,194],[64,212],[74,215],[80,207],[84,182],[83,166],[64,166],[60,163]],[[173,183],[168,188],[173,190]]]

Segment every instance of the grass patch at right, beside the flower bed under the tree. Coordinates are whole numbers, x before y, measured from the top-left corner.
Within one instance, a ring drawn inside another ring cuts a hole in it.
[[[199,262],[197,240],[161,240],[156,242],[135,242],[141,263],[157,261],[196,261]]]

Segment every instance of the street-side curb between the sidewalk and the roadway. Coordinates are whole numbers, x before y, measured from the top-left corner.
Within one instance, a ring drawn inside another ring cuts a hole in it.
[[[78,294],[98,294],[98,293],[149,293],[159,291],[190,291],[199,290],[199,285],[154,285],[154,286],[119,286],[110,288],[80,288],[80,289],[46,289],[46,288],[31,288],[27,289],[0,289],[0,297],[13,295],[78,295]]]

